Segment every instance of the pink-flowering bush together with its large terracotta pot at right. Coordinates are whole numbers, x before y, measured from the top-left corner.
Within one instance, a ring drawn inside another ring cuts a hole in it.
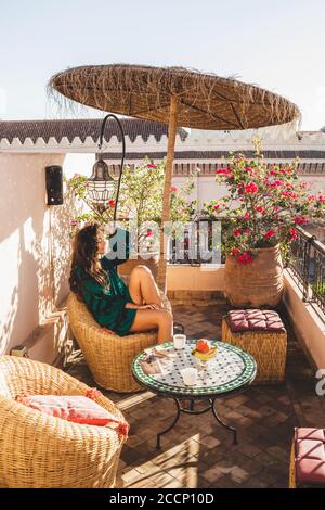
[[[224,217],[225,294],[236,306],[270,306],[284,290],[284,253],[297,238],[296,227],[324,217],[325,196],[311,193],[297,174],[297,161],[268,165],[256,142],[256,158],[230,154],[217,168],[229,193],[205,204],[210,217]]]

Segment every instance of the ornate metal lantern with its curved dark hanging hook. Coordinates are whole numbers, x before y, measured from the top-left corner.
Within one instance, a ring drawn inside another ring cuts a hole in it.
[[[121,140],[122,140],[120,174],[118,178],[116,200],[115,200],[115,205],[114,205],[114,220],[115,220],[121,176],[123,171],[125,156],[126,156],[126,140],[125,140],[125,133],[123,133],[121,124],[119,119],[113,114],[106,115],[106,117],[104,117],[103,119],[102,127],[101,127],[100,143],[99,143],[99,157],[92,167],[92,176],[89,179],[87,179],[86,186],[87,186],[87,195],[88,195],[89,203],[100,214],[105,213],[105,211],[110,207],[110,201],[113,199],[114,189],[115,189],[115,180],[109,175],[108,166],[104,162],[103,155],[102,155],[104,128],[105,128],[106,120],[109,117],[113,117],[117,122],[120,133],[121,133]]]

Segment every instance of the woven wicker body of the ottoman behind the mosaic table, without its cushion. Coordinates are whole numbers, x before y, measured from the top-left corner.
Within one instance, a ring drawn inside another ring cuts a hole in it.
[[[282,383],[285,379],[287,357],[286,331],[240,331],[230,329],[226,316],[222,318],[222,340],[240,347],[257,362],[257,377],[252,384]]]

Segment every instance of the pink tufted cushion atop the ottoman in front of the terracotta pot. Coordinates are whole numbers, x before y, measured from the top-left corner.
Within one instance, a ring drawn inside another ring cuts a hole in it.
[[[230,329],[236,331],[285,331],[280,315],[274,310],[231,310],[227,315]]]

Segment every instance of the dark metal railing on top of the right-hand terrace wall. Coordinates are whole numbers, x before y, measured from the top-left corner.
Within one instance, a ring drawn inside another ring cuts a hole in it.
[[[287,267],[297,279],[303,301],[315,303],[325,313],[325,245],[301,227],[297,232]]]

